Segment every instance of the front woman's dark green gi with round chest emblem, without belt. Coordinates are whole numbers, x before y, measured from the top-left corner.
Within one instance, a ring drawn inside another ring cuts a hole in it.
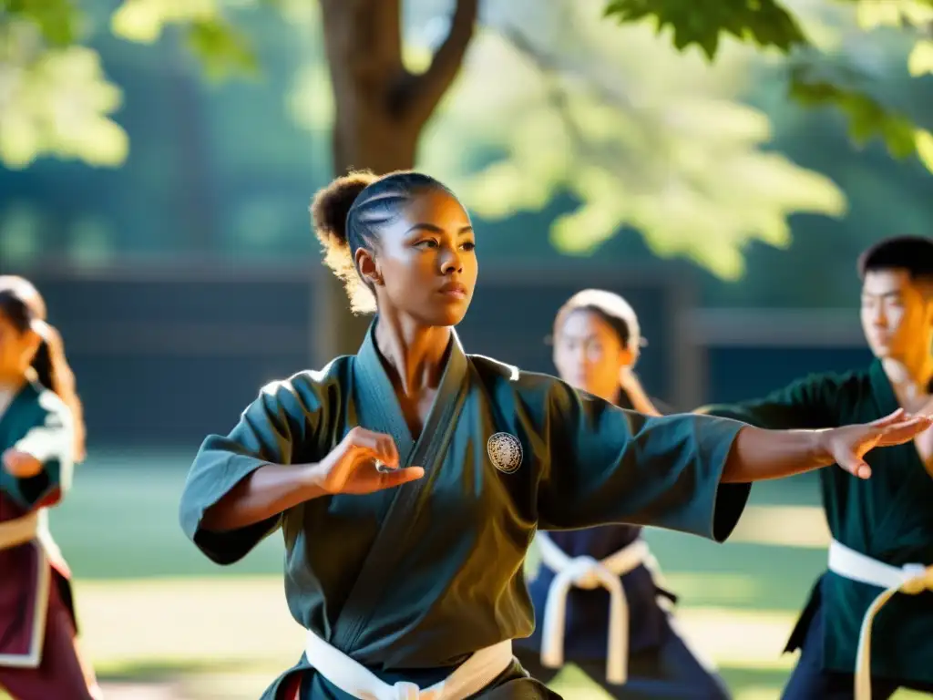
[[[425,687],[473,652],[531,634],[522,563],[537,527],[631,523],[722,540],[737,522],[749,486],[719,480],[742,424],[625,412],[466,356],[455,335],[445,361],[417,439],[372,329],[357,355],[267,386],[228,437],[204,441],[181,502],[188,537],[231,564],[281,527],[295,620],[386,682]],[[315,498],[233,532],[202,528],[204,511],[251,472],[317,462],[355,426],[393,436],[400,463],[425,477]],[[282,698],[299,671],[302,698],[351,697],[306,655],[263,697]],[[514,662],[479,696],[556,697]]]

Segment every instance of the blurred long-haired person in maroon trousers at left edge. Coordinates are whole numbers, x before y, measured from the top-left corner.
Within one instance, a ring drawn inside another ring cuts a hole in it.
[[[77,651],[69,571],[46,512],[83,452],[66,403],[77,403],[74,378],[45,304],[25,280],[0,278],[0,688],[17,700],[100,692]]]

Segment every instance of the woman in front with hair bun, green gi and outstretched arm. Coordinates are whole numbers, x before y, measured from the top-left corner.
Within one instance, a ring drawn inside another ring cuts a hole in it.
[[[867,476],[868,450],[931,423],[782,432],[625,412],[465,354],[453,327],[476,233],[438,181],[341,177],[313,219],[354,307],[378,315],[356,355],[264,387],[208,437],[181,499],[184,531],[218,564],[283,531],[285,596],[307,635],[265,698],[555,697],[511,651],[534,624],[522,565],[537,528],[722,540],[749,483],[834,462]]]

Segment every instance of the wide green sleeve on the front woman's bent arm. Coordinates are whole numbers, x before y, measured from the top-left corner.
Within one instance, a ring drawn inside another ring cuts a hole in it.
[[[282,522],[282,514],[226,532],[202,527],[204,511],[254,471],[269,464],[313,461],[309,447],[319,427],[321,400],[313,381],[296,375],[263,387],[226,437],[203,441],[182,492],[179,520],[185,534],[221,565],[242,559]]]

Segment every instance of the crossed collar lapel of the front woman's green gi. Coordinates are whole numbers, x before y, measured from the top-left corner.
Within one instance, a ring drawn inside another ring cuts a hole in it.
[[[387,432],[395,438],[399,466],[424,467],[425,472],[429,472],[433,465],[442,463],[466,399],[467,360],[463,346],[456,332],[452,332],[438,395],[421,435],[417,441],[413,441],[398,405],[395,389],[385,373],[383,360],[376,348],[373,336],[375,325],[374,321],[354,363],[360,425]],[[397,565],[404,551],[415,506],[428,482],[429,474],[425,473],[425,478],[395,489],[379,534],[373,540],[359,576],[334,625],[330,643],[344,653],[353,650],[356,639],[379,604],[386,576]]]

